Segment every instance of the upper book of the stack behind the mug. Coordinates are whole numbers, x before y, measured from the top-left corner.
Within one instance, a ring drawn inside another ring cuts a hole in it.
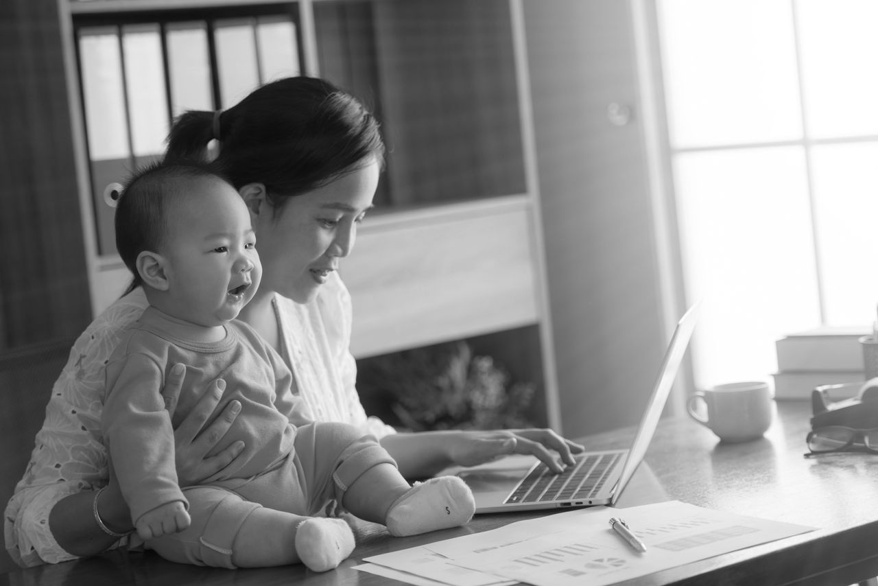
[[[778,370],[853,371],[863,368],[860,336],[867,327],[824,326],[788,334],[774,344]]]

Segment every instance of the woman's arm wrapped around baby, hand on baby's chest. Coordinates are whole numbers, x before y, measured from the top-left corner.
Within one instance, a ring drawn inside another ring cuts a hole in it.
[[[184,375],[185,368],[176,365],[162,389],[162,396],[172,416]],[[213,382],[198,400],[191,414],[175,430],[176,467],[180,486],[189,486],[219,472],[244,447],[243,442],[237,442],[223,452],[205,458],[241,411],[240,402],[229,402],[222,414],[202,429],[217,408],[225,387],[222,380]],[[97,524],[94,516],[96,496],[97,492],[93,490],[66,496],[54,505],[49,514],[49,528],[58,545],[78,557],[101,553],[120,539],[104,532]],[[133,530],[131,514],[115,478],[110,479],[106,490],[100,494],[97,513],[112,532],[127,533]]]

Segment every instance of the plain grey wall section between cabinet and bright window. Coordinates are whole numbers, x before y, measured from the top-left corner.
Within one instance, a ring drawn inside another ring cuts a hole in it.
[[[639,420],[666,347],[630,3],[524,0],[565,435]],[[614,126],[610,103],[633,108]]]

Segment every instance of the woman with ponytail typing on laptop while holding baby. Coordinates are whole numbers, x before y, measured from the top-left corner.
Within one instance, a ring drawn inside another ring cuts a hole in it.
[[[248,206],[263,263],[262,285],[240,318],[290,366],[314,419],[354,423],[371,433],[408,478],[508,453],[534,454],[556,471],[562,469],[558,458],[572,463],[571,452],[582,446],[551,430],[395,433],[363,411],[349,352],[350,299],[335,271],[353,249],[356,225],[372,205],[384,143],[378,122],[356,98],[319,79],[288,78],[255,90],[225,112],[187,112],[171,129],[168,156],[207,158],[216,150],[217,163]],[[61,373],[61,396],[56,385],[31,465],[4,519],[7,548],[25,565],[100,553],[132,529],[107,473],[96,425],[104,399],[103,361],[146,305],[140,289],[114,303],[76,342]],[[165,394],[171,404],[178,384],[169,381]],[[217,389],[214,385],[205,396]],[[210,413],[207,402],[204,414]],[[198,449],[187,449],[198,428],[193,420],[177,430],[177,449],[182,444],[184,452],[177,465],[183,466],[181,481],[189,484],[209,476],[205,468],[234,457],[199,461],[206,453],[199,449],[212,445],[210,434],[222,429],[201,434]],[[190,463],[181,465],[181,459]],[[56,466],[65,471],[63,478]]]

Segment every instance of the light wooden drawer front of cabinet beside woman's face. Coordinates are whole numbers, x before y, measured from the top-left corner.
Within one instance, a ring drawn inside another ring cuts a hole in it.
[[[340,272],[357,357],[536,323],[523,196],[370,218]]]

